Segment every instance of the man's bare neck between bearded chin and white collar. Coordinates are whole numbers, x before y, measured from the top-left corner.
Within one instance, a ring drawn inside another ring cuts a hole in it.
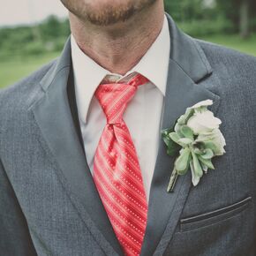
[[[70,13],[79,48],[109,72],[120,75],[139,63],[161,32],[163,18],[162,1],[113,26],[95,26]]]

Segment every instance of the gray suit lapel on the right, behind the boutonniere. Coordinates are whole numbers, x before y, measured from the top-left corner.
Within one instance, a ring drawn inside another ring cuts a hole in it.
[[[168,17],[169,18],[169,17]],[[178,31],[169,18],[171,52],[169,75],[162,117],[162,128],[175,124],[186,108],[196,102],[211,99],[212,111],[218,107],[219,96],[197,84],[211,75],[211,68],[202,49],[196,41]],[[212,79],[213,82],[216,82]],[[175,191],[167,193],[169,176],[174,157],[166,154],[166,147],[160,138],[158,156],[154,169],[148,205],[147,230],[141,255],[162,255],[176,229],[185,200],[191,188],[191,175],[178,177]]]

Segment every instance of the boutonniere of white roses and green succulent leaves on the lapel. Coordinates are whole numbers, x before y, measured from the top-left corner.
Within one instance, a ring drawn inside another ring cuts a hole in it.
[[[173,191],[177,177],[186,174],[188,169],[192,172],[192,184],[199,184],[203,173],[207,173],[208,169],[215,169],[212,159],[225,153],[226,142],[219,129],[222,121],[207,109],[212,104],[211,100],[198,102],[186,109],[173,129],[162,131],[167,154],[178,154],[167,192]]]

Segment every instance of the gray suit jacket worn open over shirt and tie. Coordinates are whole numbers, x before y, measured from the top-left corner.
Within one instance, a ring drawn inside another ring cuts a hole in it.
[[[174,158],[160,139],[141,255],[256,255],[256,58],[194,40],[170,18],[169,30],[162,129],[212,99],[227,153],[197,187],[187,173],[167,193]],[[80,141],[70,48],[0,94],[4,256],[122,255]]]

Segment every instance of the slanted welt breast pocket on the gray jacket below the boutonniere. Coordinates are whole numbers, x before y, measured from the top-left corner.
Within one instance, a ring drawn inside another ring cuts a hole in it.
[[[213,225],[217,222],[228,220],[233,216],[239,215],[245,211],[252,203],[252,197],[247,197],[245,200],[240,200],[227,207],[222,207],[202,215],[196,215],[180,220],[180,231],[196,230],[208,225]]]

